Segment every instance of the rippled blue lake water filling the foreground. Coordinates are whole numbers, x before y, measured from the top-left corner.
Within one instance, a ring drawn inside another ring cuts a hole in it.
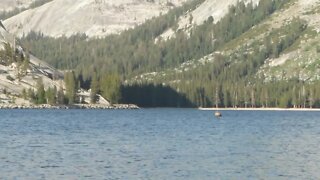
[[[0,179],[319,179],[320,112],[0,110]]]

